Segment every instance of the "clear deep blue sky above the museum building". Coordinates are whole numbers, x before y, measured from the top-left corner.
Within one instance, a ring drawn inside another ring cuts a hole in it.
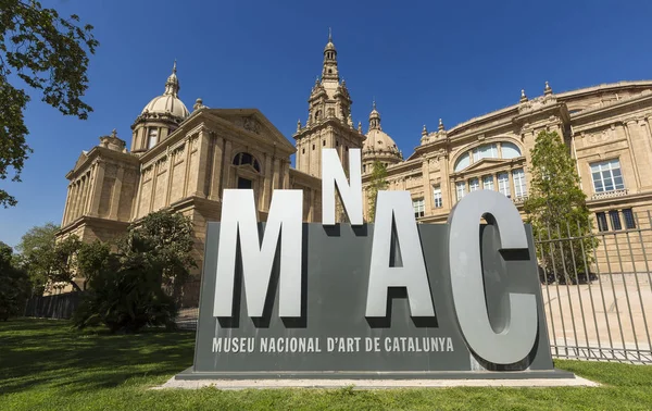
[[[353,121],[366,129],[375,97],[404,155],[424,124],[448,128],[541,95],[652,79],[652,2],[632,1],[42,1],[78,14],[100,41],[91,57],[87,121],[29,103],[22,183],[0,182],[18,204],[0,209],[0,240],[61,223],[65,174],[82,150],[130,124],[164,90],[174,59],[180,98],[211,108],[258,108],[291,139],[305,122],[333,27]]]

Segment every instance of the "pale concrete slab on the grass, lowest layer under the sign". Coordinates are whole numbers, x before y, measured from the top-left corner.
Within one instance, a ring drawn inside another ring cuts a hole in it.
[[[573,374],[570,374],[573,375]],[[598,387],[600,384],[573,376],[572,378],[512,379],[177,379],[170,378],[153,389],[277,389],[277,388],[446,388],[446,387]]]

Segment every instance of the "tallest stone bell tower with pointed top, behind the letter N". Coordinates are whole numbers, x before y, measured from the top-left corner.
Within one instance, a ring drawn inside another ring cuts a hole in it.
[[[353,126],[347,83],[340,80],[337,49],[328,30],[324,48],[322,76],[317,77],[308,99],[308,120],[299,120],[297,133],[297,170],[322,176],[322,150],[337,149],[344,170],[349,167],[349,149],[362,148],[364,135]]]

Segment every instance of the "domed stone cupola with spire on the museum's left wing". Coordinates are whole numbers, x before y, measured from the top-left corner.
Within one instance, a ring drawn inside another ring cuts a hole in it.
[[[163,95],[154,97],[131,125],[131,152],[142,153],[151,149],[178,128],[190,112],[179,99],[179,79],[176,75],[176,60],[172,74],[165,82]]]

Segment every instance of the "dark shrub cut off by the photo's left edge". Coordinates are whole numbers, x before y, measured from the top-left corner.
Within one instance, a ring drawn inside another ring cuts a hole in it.
[[[0,241],[0,320],[21,314],[29,290],[27,273],[15,265],[12,248]]]

